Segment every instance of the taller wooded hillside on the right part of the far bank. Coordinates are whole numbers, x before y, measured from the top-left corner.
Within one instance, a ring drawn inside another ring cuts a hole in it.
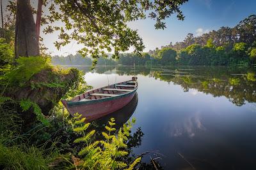
[[[189,33],[182,42],[148,52],[159,64],[248,65],[256,62],[256,15],[235,27],[221,27],[202,36]],[[164,61],[163,61],[164,60]]]

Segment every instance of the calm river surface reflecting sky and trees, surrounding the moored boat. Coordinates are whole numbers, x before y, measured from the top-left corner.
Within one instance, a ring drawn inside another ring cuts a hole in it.
[[[111,116],[120,124],[136,118],[132,152],[150,152],[143,162],[155,159],[159,169],[256,169],[256,69],[78,68],[93,88],[136,74],[138,96]]]

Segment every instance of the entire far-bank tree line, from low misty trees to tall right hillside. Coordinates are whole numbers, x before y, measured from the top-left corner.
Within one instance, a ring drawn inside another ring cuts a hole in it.
[[[55,56],[54,64],[91,65],[92,59],[81,55]],[[98,65],[208,65],[248,66],[256,63],[256,15],[250,15],[235,27],[221,27],[217,31],[194,37],[189,33],[182,42],[156,48],[142,56],[121,53],[118,60],[100,57]]]

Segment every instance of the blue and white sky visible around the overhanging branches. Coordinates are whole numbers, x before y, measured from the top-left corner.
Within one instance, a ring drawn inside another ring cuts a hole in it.
[[[37,1],[31,0],[31,4],[36,7],[35,2]],[[182,41],[188,33],[199,36],[204,32],[219,29],[221,26],[234,27],[249,15],[256,14],[256,0],[189,0],[181,6],[181,10],[185,20],[177,20],[173,15],[165,20],[167,28],[164,30],[156,30],[154,20],[150,19],[129,23],[132,29],[138,29],[139,35],[143,38],[145,52],[170,42]],[[53,45],[53,42],[58,39],[57,34],[44,35],[41,31],[41,36],[51,55],[74,54],[83,47],[72,42],[58,51]],[[132,48],[129,52],[132,52]]]

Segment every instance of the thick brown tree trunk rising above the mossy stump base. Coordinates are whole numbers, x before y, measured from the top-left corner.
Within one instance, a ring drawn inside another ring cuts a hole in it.
[[[39,43],[36,41],[36,25],[29,0],[17,0],[15,23],[15,57],[38,56]]]

